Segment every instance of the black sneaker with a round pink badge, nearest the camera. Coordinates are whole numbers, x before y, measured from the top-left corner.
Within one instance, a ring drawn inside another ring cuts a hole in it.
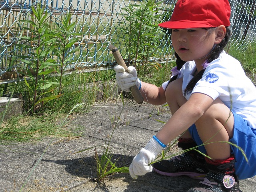
[[[187,192],[239,192],[239,180],[236,175],[230,176],[209,171],[199,186]]]

